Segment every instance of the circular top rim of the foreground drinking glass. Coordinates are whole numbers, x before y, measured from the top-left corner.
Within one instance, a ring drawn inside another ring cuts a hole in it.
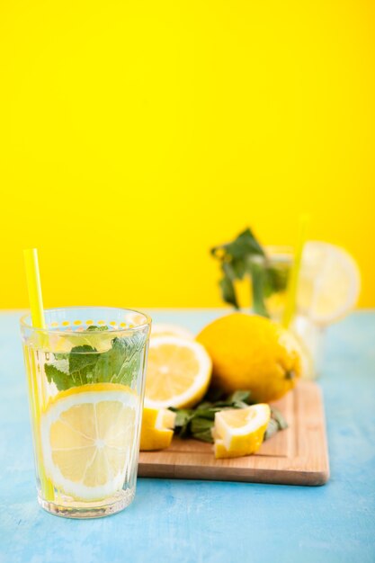
[[[147,315],[147,313],[144,313],[143,311],[139,311],[137,308],[124,308],[124,307],[104,307],[103,305],[78,305],[77,307],[75,306],[70,306],[70,307],[53,307],[53,308],[45,308],[44,312],[50,312],[50,311],[62,311],[62,310],[68,310],[68,309],[73,309],[73,308],[96,308],[96,309],[112,309],[115,311],[126,311],[127,313],[137,313],[138,315],[142,315],[142,317],[145,317],[146,322],[142,323],[141,325],[137,325],[137,326],[119,326],[118,328],[108,328],[107,330],[101,330],[100,334],[102,335],[108,335],[108,334],[112,334],[112,333],[129,333],[129,332],[137,332],[138,330],[142,330],[143,328],[146,328],[147,326],[151,326],[151,322],[152,319],[149,315]],[[28,321],[28,322],[27,322]],[[45,334],[53,334],[53,335],[58,335],[58,336],[81,336],[82,337],[82,332],[83,331],[68,331],[68,330],[57,330],[55,327],[51,327],[51,328],[41,328],[40,326],[32,326],[31,324],[31,311],[29,310],[28,313],[26,313],[25,315],[22,315],[22,317],[20,318],[20,325],[22,328],[27,328],[30,329],[34,332],[38,332],[38,333],[45,333]],[[99,334],[99,333],[96,333]]]

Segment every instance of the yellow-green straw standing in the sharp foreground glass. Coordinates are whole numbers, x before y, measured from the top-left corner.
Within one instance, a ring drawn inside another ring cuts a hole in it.
[[[41,296],[41,286],[40,286],[40,271],[38,264],[38,250],[36,248],[27,248],[23,250],[23,258],[26,270],[26,282],[27,289],[29,292],[29,301],[31,309],[31,324],[35,328],[45,328],[46,322],[44,319],[43,310],[43,299]],[[43,335],[40,335],[43,336]],[[40,441],[40,395],[38,388],[37,379],[37,369],[35,365],[35,356],[32,352],[30,355],[26,353],[26,363],[28,369],[29,380],[29,392],[31,398],[31,416],[32,424],[34,427],[35,434],[35,445],[36,445],[36,458],[39,467],[40,476],[40,487],[43,497],[46,500],[54,499],[54,489],[51,481],[47,478],[44,465],[43,456],[41,452],[41,441]]]

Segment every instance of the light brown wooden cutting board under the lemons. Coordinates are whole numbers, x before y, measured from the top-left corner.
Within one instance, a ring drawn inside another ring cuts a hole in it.
[[[329,478],[326,424],[320,389],[300,381],[286,397],[274,402],[289,428],[263,442],[258,453],[215,460],[212,446],[174,438],[164,451],[142,451],[138,476],[248,481],[286,485],[323,485]]]

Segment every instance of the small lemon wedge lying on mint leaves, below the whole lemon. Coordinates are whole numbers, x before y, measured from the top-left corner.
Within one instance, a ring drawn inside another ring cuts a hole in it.
[[[216,458],[237,458],[258,451],[271,409],[266,404],[219,411],[213,428]]]

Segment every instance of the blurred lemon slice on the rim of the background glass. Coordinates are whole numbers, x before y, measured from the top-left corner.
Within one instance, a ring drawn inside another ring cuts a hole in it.
[[[343,248],[324,242],[305,245],[299,274],[299,311],[317,325],[344,317],[361,289],[358,266]]]

